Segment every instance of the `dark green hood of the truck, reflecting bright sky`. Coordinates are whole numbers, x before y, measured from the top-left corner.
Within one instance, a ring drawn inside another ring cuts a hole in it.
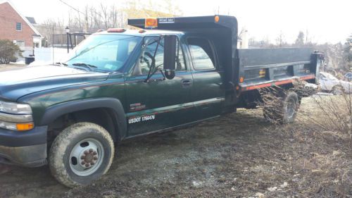
[[[106,80],[108,73],[93,73],[62,66],[34,66],[0,72],[0,98],[15,101],[34,92]]]

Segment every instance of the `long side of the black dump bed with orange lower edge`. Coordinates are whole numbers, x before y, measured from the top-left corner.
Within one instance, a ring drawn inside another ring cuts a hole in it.
[[[238,56],[242,91],[289,84],[296,79],[315,82],[322,58],[310,48],[238,49]]]

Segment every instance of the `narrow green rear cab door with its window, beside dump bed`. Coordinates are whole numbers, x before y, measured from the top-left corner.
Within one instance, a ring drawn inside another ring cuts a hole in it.
[[[216,69],[213,45],[201,37],[189,37],[187,43],[193,66],[191,95],[197,120],[218,116],[225,101],[225,90],[222,89],[220,72]]]

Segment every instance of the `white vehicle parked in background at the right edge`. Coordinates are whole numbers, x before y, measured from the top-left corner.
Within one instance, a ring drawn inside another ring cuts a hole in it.
[[[352,82],[339,80],[329,73],[320,73],[320,87],[324,92],[332,92],[334,95],[352,92]]]

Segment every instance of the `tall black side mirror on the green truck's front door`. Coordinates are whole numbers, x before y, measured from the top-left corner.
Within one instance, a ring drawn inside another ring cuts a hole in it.
[[[164,70],[169,80],[175,78],[177,39],[175,35],[164,36]]]

